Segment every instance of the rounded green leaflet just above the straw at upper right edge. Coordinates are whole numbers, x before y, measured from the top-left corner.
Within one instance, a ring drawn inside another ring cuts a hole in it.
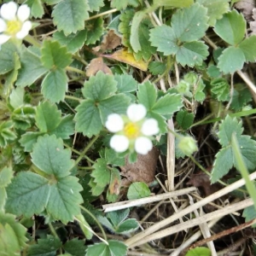
[[[237,70],[241,70],[245,61],[243,51],[235,46],[230,46],[224,49],[222,55],[219,56],[217,67],[223,73],[235,73]]]

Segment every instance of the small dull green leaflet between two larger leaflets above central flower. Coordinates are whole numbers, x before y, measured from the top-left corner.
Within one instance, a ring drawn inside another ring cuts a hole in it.
[[[131,92],[137,90],[137,81],[129,74],[115,74],[114,80],[117,82],[117,92]]]

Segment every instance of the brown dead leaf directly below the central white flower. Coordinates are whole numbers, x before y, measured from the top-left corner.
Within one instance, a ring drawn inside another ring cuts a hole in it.
[[[148,154],[138,154],[137,162],[129,163],[125,158],[125,166],[121,166],[121,175],[126,177],[122,180],[123,186],[128,186],[134,182],[151,183],[154,181],[154,173],[156,169],[159,150],[153,148]]]

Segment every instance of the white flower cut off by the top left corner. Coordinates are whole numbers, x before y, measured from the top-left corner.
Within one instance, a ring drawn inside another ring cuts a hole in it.
[[[27,20],[30,8],[23,4],[20,7],[15,2],[4,3],[0,9],[0,45],[9,38],[22,39],[28,35],[32,22]]]

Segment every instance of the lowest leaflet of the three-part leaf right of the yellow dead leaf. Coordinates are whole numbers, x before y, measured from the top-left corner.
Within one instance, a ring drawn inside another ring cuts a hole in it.
[[[207,49],[207,45],[201,41],[184,43],[177,51],[176,60],[182,66],[200,66],[209,55]]]

